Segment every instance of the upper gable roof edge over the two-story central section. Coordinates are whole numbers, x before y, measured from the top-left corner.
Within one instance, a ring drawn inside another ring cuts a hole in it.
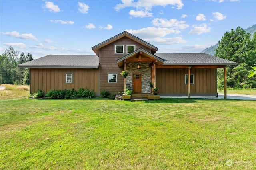
[[[94,51],[94,53],[96,53],[96,55],[99,56],[99,49],[100,48],[102,48],[102,47],[104,47],[104,46],[122,38],[122,37],[128,37],[128,38],[132,39],[133,41],[136,41],[137,43],[140,43],[140,44],[150,48],[151,52],[153,54],[156,53],[156,51],[158,50],[158,48],[155,47],[154,45],[151,45],[150,43],[147,43],[146,41],[143,41],[142,39],[128,33],[127,31],[124,31],[124,32],[122,32],[122,33],[120,33],[120,34],[118,34],[114,37],[111,37],[110,39],[107,39],[106,41],[103,41],[102,43],[99,43],[98,45],[93,46],[92,50]]]

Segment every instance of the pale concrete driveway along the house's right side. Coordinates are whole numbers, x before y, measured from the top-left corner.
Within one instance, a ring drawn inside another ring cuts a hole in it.
[[[160,98],[188,98],[188,96],[160,96]],[[224,99],[224,94],[216,96],[191,96],[193,99]],[[256,100],[256,95],[227,94],[227,99]]]

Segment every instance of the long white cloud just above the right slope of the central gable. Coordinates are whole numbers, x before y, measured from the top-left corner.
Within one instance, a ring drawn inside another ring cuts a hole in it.
[[[156,28],[156,27],[147,27],[147,28],[142,28],[138,30],[127,29],[126,31],[142,39],[159,38],[159,37],[164,37],[170,33],[176,33],[176,30],[174,29]]]

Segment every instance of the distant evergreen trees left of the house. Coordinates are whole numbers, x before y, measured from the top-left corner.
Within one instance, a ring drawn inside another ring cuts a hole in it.
[[[18,68],[18,64],[33,60],[33,56],[9,47],[0,55],[0,84],[29,84],[29,68]]]

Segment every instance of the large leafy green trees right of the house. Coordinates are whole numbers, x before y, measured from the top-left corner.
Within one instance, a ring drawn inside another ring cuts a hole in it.
[[[256,76],[248,77],[256,64],[256,33],[250,39],[250,33],[237,27],[224,33],[218,41],[215,56],[234,61],[236,66],[227,68],[227,86],[230,88],[256,88]],[[218,88],[224,86],[224,70],[218,69]]]

